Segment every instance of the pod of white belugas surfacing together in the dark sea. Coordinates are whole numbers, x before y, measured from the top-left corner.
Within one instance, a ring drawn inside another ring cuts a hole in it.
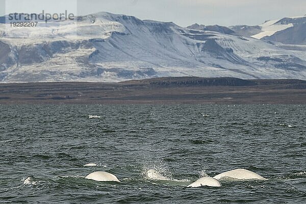
[[[87,164],[85,166],[93,166],[94,164]],[[170,181],[168,177],[162,175],[160,172],[154,169],[146,171],[146,176],[150,180],[160,180],[160,181]],[[106,171],[95,171],[88,174],[85,179],[91,179],[99,182],[119,182],[114,174],[108,173]],[[246,169],[234,169],[230,171],[225,171],[223,173],[217,174],[214,177],[204,176],[196,180],[192,184],[186,186],[187,188],[196,188],[202,186],[210,187],[221,187],[220,180],[222,179],[232,179],[232,180],[266,180],[263,176],[254,173]]]

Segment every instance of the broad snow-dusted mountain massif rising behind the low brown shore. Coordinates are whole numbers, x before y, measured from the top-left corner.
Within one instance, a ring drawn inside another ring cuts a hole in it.
[[[38,23],[36,28],[0,23],[0,82],[118,82],[179,76],[305,80],[303,47],[288,48],[264,36],[256,39],[260,32],[270,31],[265,28],[254,28],[251,37],[239,34],[238,27],[182,28],[106,12],[75,21]],[[286,31],[285,25],[282,29]]]

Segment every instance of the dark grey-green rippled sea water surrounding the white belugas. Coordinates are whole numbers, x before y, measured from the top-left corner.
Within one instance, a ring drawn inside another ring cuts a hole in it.
[[[306,203],[305,105],[0,105],[0,124],[0,202]],[[184,188],[236,168],[269,180]]]

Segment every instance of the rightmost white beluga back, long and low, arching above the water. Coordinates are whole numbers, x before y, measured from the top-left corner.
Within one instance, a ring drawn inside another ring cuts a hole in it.
[[[223,173],[215,175],[213,178],[216,180],[221,180],[221,179],[226,179],[227,177],[236,180],[266,180],[261,175],[246,169],[235,169],[231,171],[225,171]]]

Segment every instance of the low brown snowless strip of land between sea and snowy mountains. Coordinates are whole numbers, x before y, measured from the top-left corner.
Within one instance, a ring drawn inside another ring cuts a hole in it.
[[[158,78],[0,84],[0,104],[305,104],[306,81]]]

